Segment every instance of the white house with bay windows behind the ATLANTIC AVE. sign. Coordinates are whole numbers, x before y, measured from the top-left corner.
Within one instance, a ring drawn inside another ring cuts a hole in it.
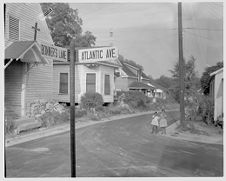
[[[75,103],[79,104],[81,97],[86,92],[97,92],[102,95],[105,103],[113,102],[115,71],[120,66],[117,59],[95,63],[76,62]],[[70,102],[69,62],[53,63],[53,97],[59,102]]]

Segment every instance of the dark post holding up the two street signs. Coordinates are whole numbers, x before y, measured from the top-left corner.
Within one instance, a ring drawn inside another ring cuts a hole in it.
[[[71,145],[71,177],[76,177],[75,152],[75,40],[70,43],[70,145]]]

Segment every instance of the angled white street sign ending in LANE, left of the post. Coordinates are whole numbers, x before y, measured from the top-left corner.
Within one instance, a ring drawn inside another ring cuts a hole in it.
[[[66,48],[40,43],[41,54],[46,58],[51,58],[61,62],[68,61],[68,53]]]

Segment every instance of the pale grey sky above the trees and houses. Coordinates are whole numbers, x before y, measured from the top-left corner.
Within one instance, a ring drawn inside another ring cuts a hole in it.
[[[178,61],[177,3],[70,3],[91,31],[97,46],[113,43],[125,58],[144,67],[153,78],[171,76]],[[183,50],[196,59],[201,76],[223,60],[223,4],[183,3]],[[113,37],[110,37],[110,31]]]

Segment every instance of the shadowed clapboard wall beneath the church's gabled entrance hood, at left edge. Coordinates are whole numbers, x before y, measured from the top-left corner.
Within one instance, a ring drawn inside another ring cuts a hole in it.
[[[14,61],[5,70],[5,116],[18,118],[21,116],[21,92],[23,81],[23,66],[20,61]]]

